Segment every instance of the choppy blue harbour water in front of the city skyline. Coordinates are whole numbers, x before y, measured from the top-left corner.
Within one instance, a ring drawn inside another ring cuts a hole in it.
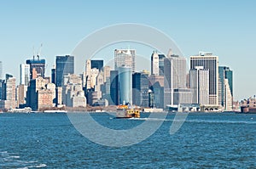
[[[112,148],[84,138],[65,114],[0,114],[0,168],[256,168],[256,115],[189,114],[174,135],[173,114],[92,116],[116,129],[163,124],[139,144]]]

